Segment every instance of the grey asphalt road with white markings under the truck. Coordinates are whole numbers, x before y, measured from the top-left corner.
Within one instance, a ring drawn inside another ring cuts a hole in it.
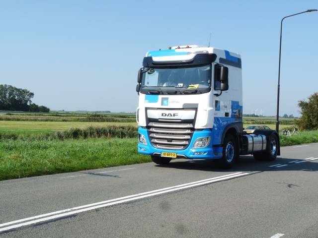
[[[317,238],[318,143],[231,170],[173,160],[0,181],[0,236]]]

